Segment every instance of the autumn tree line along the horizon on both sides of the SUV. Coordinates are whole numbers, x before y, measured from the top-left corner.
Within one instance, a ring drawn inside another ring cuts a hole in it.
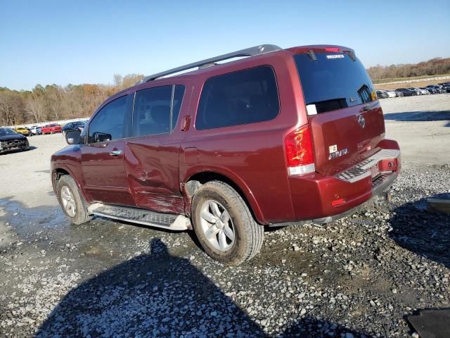
[[[450,73],[450,58],[432,58],[416,64],[376,65],[368,68],[372,80]],[[42,123],[89,117],[108,96],[131,87],[141,74],[115,74],[113,84],[37,84],[31,91],[0,87],[0,126]]]

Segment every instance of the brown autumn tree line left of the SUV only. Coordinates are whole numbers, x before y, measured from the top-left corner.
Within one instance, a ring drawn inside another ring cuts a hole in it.
[[[115,74],[113,84],[37,84],[31,91],[0,87],[0,126],[89,117],[108,96],[142,77]]]

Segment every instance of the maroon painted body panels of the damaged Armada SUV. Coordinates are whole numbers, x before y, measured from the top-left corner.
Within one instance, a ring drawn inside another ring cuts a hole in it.
[[[314,46],[314,51],[324,48]],[[131,87],[124,92],[130,94],[167,84],[186,86],[174,132],[119,141],[120,145],[115,147],[123,146],[124,153],[115,160],[108,158],[109,151],[106,151],[113,142],[101,149],[98,149],[99,144],[89,146],[93,148],[89,151],[85,150],[86,145],[69,146],[52,156],[52,172],[70,168],[88,203],[103,200],[190,215],[191,201],[184,184],[195,174],[209,172],[236,184],[262,224],[321,218],[347,211],[372,196],[371,177],[350,184],[331,175],[379,149],[399,149],[399,146],[397,142],[384,139],[383,111],[378,101],[371,104],[370,111],[362,111],[363,105],[360,105],[307,118],[293,54],[309,49],[311,47],[303,46],[275,51]],[[195,112],[205,80],[258,65],[271,65],[275,70],[279,115],[274,120],[250,125],[195,130]],[[98,110],[122,93],[112,96]],[[364,130],[357,122],[361,114],[366,118]],[[290,177],[285,163],[284,139],[308,123],[313,135],[316,173]],[[349,154],[328,161],[328,147],[333,144],[338,150],[349,149]],[[398,173],[400,163],[395,163],[394,171]],[[385,165],[387,163],[380,163],[381,167]],[[92,183],[94,177],[100,179],[98,189]],[[108,185],[113,178],[117,180],[114,187]],[[53,186],[55,184],[53,180]],[[340,198],[346,202],[336,207],[331,205]]]

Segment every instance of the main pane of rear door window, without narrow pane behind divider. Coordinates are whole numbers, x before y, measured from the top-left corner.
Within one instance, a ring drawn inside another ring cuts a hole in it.
[[[134,99],[134,136],[169,133],[172,86],[143,89]]]

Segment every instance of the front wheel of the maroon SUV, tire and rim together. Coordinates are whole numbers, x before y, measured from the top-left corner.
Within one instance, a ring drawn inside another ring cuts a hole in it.
[[[60,177],[57,189],[59,204],[71,223],[79,225],[92,219],[92,216],[88,214],[77,183],[70,175]]]

